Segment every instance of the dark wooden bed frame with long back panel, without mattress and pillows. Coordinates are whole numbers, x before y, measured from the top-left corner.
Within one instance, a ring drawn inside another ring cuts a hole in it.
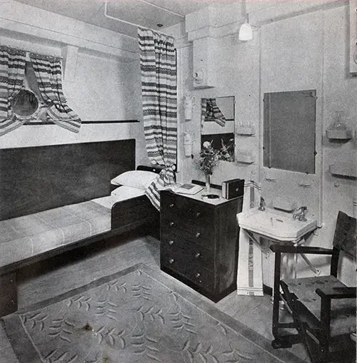
[[[0,220],[110,195],[111,179],[134,170],[135,146],[132,139],[1,149]],[[0,267],[0,317],[17,310],[19,268],[131,230],[159,238],[159,212],[146,195],[115,203],[109,232]]]

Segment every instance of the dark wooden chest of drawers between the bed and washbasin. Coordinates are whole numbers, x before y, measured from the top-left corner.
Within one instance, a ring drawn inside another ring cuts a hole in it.
[[[217,302],[236,290],[243,195],[226,200],[161,192],[161,270]]]

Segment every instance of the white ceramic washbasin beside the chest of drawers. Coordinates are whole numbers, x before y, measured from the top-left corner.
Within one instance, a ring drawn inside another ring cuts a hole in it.
[[[291,213],[278,213],[276,210],[252,208],[237,214],[238,224],[273,240],[295,241],[316,228],[316,220],[306,222],[293,220]]]

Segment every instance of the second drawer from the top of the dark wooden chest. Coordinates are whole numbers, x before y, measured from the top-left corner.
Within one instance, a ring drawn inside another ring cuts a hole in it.
[[[209,250],[213,249],[214,226],[204,227],[193,223],[184,223],[175,218],[161,217],[161,234],[174,234],[183,237],[184,240],[191,240],[198,245],[206,246]]]

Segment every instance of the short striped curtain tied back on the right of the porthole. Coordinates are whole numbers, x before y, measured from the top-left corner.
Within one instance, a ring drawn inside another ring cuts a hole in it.
[[[81,119],[69,108],[62,91],[61,59],[34,53],[30,53],[30,58],[41,96],[47,107],[46,121],[52,121],[58,126],[78,133]]]

